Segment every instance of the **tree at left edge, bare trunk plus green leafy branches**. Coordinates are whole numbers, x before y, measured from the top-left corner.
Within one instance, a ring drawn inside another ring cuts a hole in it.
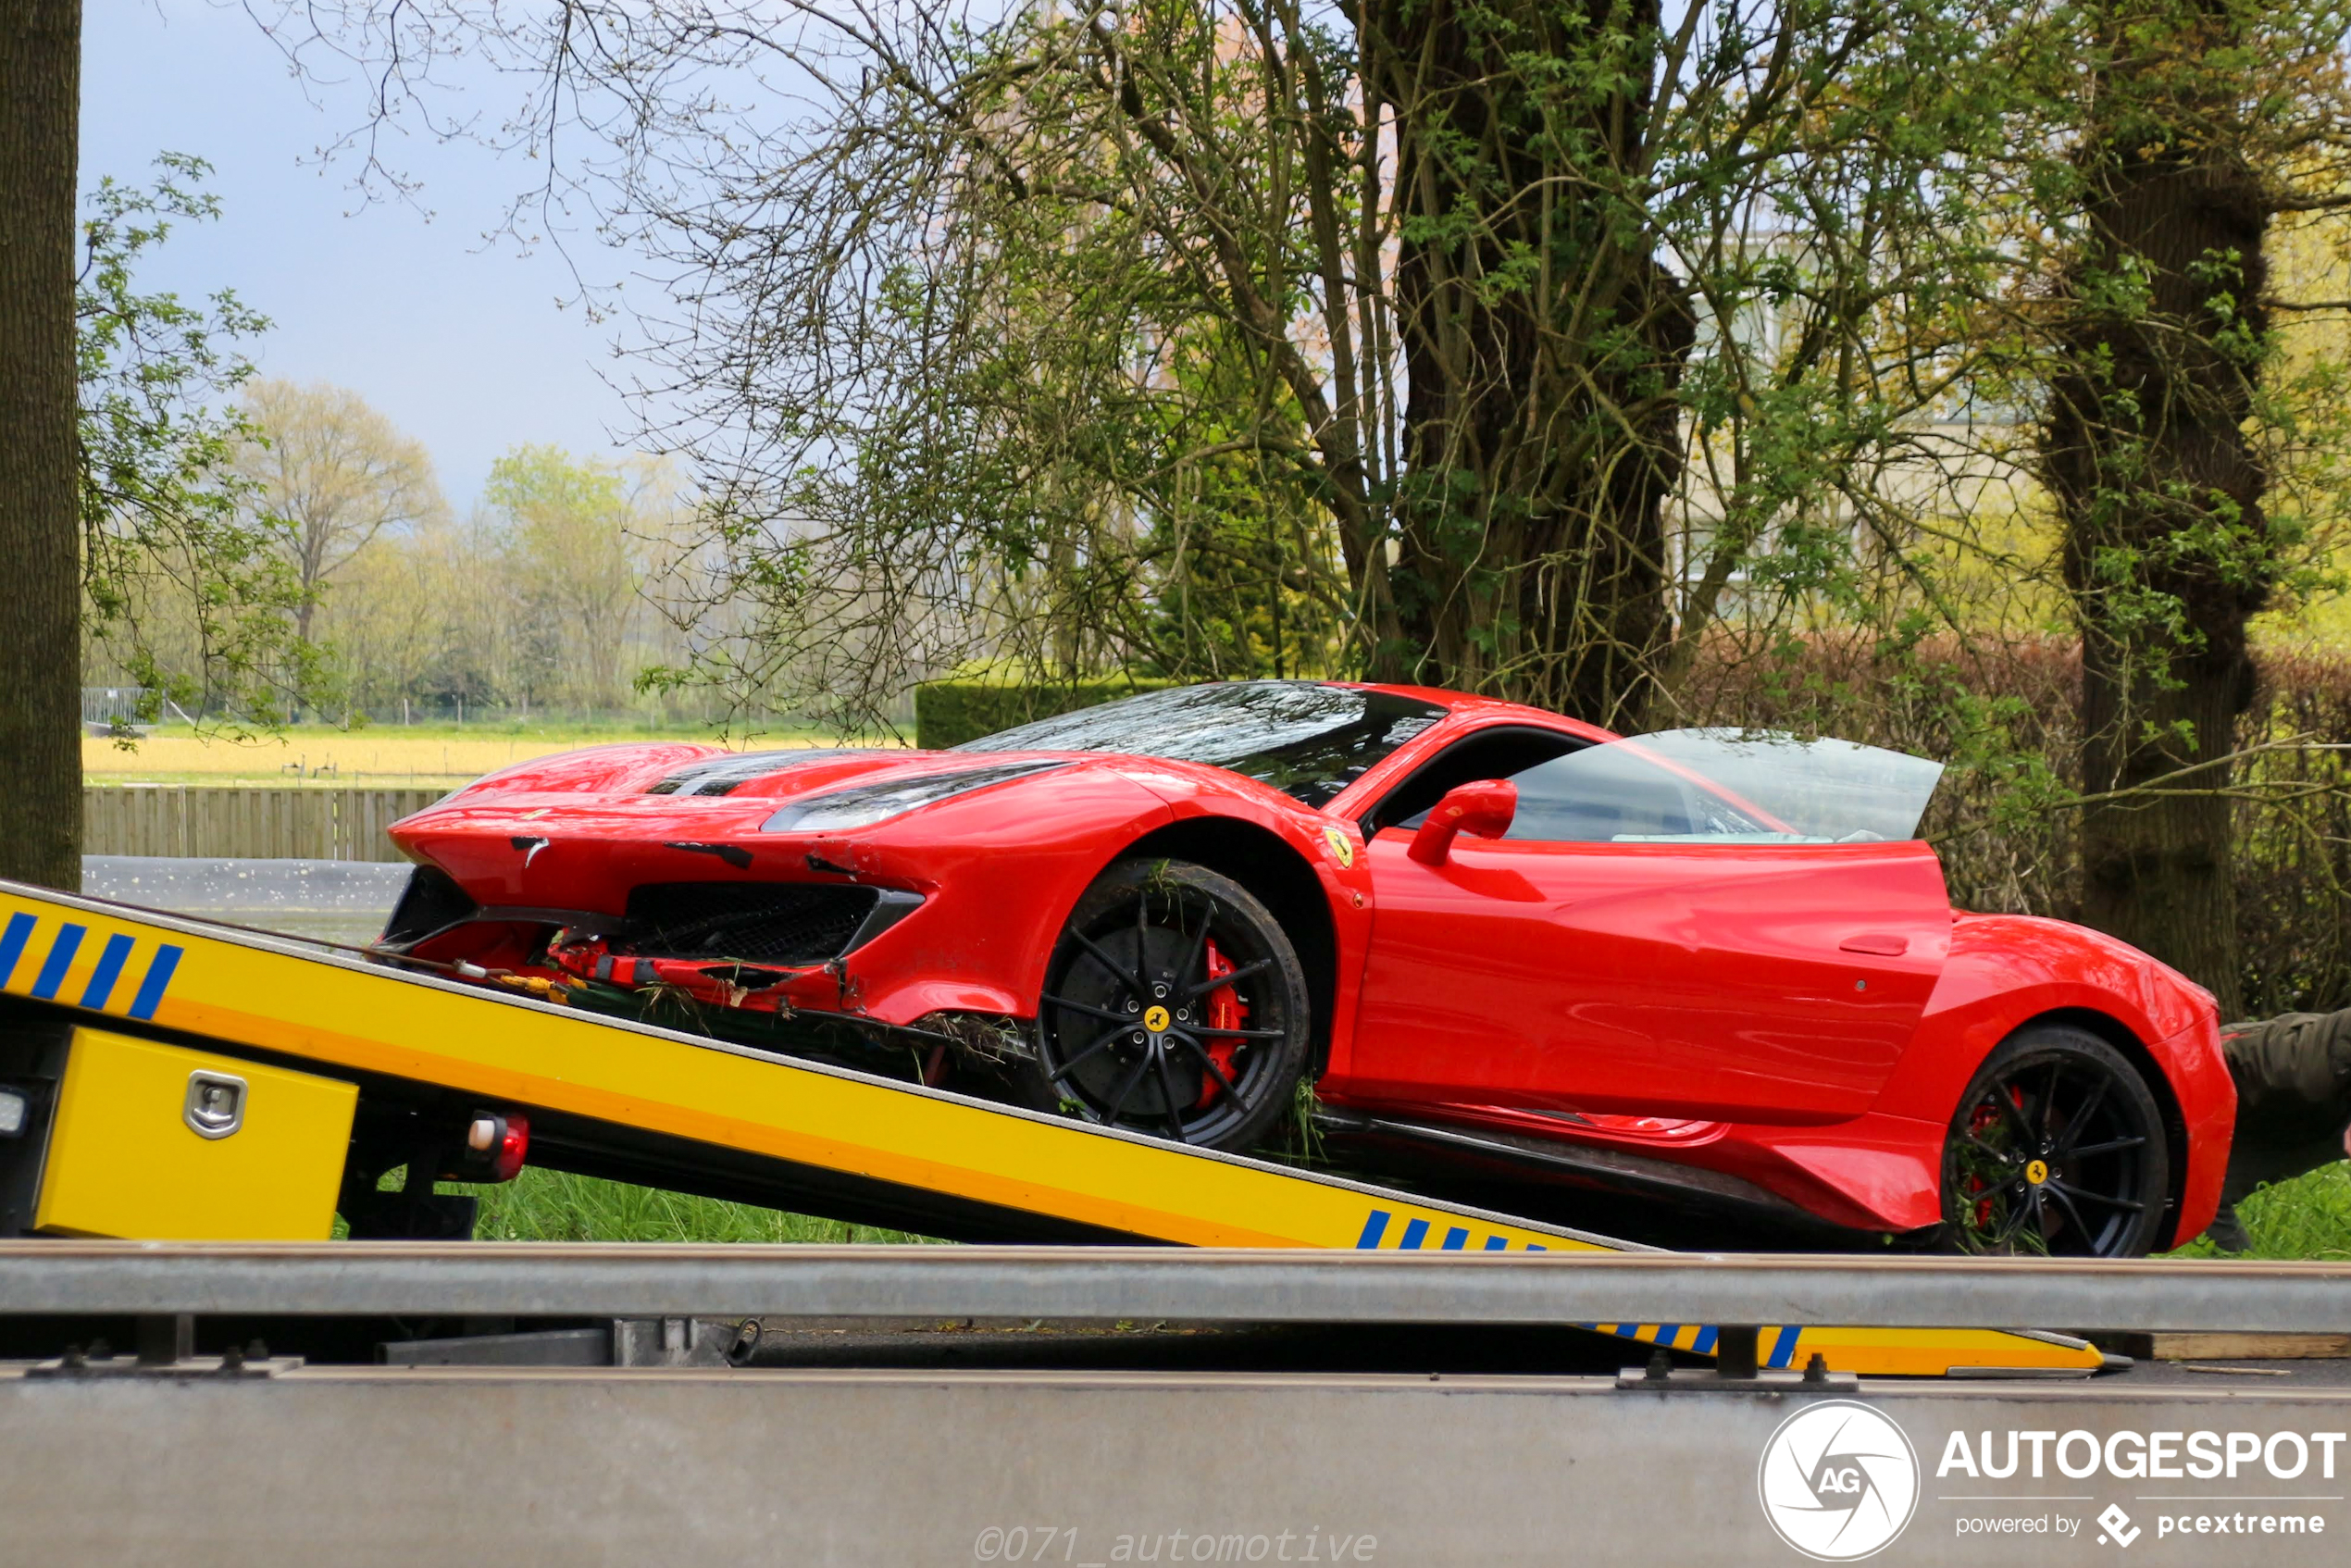
[[[263,722],[289,672],[270,527],[237,520],[235,416],[212,411],[263,322],[235,296],[141,294],[174,221],[216,216],[200,160],[150,188],[101,181],[75,223],[78,0],[0,21],[0,875],[80,886],[85,651],[167,698],[228,691]],[[87,614],[85,614],[87,604]],[[87,639],[87,646],[85,646]]]

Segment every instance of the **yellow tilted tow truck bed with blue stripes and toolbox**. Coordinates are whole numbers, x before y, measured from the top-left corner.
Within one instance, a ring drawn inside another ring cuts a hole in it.
[[[320,1187],[320,1147],[331,1157],[339,1145],[317,1128],[456,1098],[524,1112],[536,1164],[952,1239],[1632,1251],[7,882],[0,992],[38,1018],[78,1023],[71,1039],[33,1025],[0,1041],[0,1088],[16,1086],[24,1114],[19,1135],[0,1143],[0,1208],[14,1232],[299,1237],[273,1225],[294,1222],[287,1194],[310,1182],[327,1199],[324,1211],[306,1199],[317,1215],[308,1234],[324,1237],[341,1168]],[[249,1138],[240,1145],[207,1117],[245,1117]],[[268,1225],[228,1213],[221,1192],[266,1192]],[[1716,1340],[1700,1321],[1606,1328],[1702,1354]],[[1980,1328],[1766,1326],[1761,1345],[1768,1366],[1822,1354],[1855,1373],[2104,1363],[2081,1340]]]

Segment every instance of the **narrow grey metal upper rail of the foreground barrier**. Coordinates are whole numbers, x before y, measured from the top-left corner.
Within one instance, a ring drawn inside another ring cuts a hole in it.
[[[2351,1262],[665,1241],[0,1241],[0,1314],[1180,1319],[2346,1333]]]

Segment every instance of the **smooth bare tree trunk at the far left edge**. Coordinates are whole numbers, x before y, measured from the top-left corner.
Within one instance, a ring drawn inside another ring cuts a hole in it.
[[[0,877],[82,886],[80,0],[0,19]]]

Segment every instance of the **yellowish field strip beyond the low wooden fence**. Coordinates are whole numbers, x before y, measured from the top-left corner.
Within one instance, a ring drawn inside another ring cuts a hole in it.
[[[614,741],[696,741],[708,733],[684,729],[585,729],[585,726],[379,726],[334,729],[303,724],[256,741],[197,738],[186,729],[158,729],[132,748],[82,741],[87,783],[308,783],[308,785],[458,785],[531,757],[569,752]],[[816,729],[771,731],[734,748],[832,745]]]

